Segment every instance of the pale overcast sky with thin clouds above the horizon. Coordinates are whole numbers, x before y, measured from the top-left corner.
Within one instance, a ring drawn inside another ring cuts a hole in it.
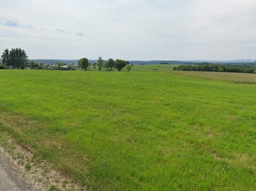
[[[30,59],[256,59],[256,0],[0,0]]]

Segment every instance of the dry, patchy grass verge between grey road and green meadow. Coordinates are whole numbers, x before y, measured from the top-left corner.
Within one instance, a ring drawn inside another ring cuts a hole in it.
[[[25,184],[38,191],[86,191],[86,186],[75,182],[53,164],[37,155],[33,149],[12,138],[8,128],[0,123],[0,153],[13,164]]]

